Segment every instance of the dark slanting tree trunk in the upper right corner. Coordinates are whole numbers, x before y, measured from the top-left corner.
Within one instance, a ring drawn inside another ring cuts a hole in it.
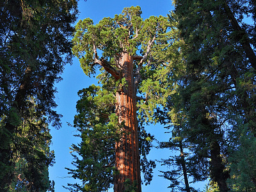
[[[239,42],[242,45],[242,47],[244,49],[244,52],[246,54],[246,57],[249,59],[252,67],[256,70],[256,55],[253,52],[253,49],[252,49],[252,47],[250,45],[249,37],[246,34],[246,32],[239,26],[236,18],[234,17],[234,14],[232,13],[232,11],[230,10],[230,7],[227,4],[227,1],[225,1],[224,10],[227,13],[228,19],[230,20],[233,28],[236,31],[239,31],[239,32],[241,32],[243,34],[243,36],[241,36]],[[245,36],[245,38],[243,38],[244,36]]]

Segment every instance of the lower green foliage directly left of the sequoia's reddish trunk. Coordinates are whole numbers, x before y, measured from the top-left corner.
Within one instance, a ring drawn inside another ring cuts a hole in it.
[[[115,173],[115,141],[118,139],[118,118],[115,115],[115,97],[100,86],[89,86],[79,91],[74,127],[82,141],[72,145],[76,170],[71,170],[75,179],[83,185],[68,184],[70,191],[106,191],[113,183]],[[79,159],[81,157],[82,159]]]

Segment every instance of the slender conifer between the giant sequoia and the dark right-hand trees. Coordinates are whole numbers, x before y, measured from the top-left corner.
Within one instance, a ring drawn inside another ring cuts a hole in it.
[[[182,45],[184,44],[179,44],[180,47]],[[181,56],[181,54],[176,55]],[[179,61],[181,60],[179,59]],[[177,70],[176,67],[178,67]],[[158,148],[168,148],[172,151],[168,159],[159,161],[162,166],[169,168],[167,171],[161,171],[163,175],[160,176],[170,180],[171,184],[168,188],[171,191],[189,192],[197,191],[191,187],[191,183],[208,178],[207,164],[209,161],[202,156],[198,157],[198,146],[191,142],[188,131],[186,131],[189,127],[188,114],[184,109],[183,95],[180,94],[183,89],[181,84],[184,84],[184,81],[179,79],[184,77],[182,68],[184,68],[182,61],[173,63],[170,73],[172,74],[172,83],[169,83],[168,86],[168,90],[172,94],[168,96],[166,106],[156,111],[156,116],[158,116],[159,122],[168,129],[166,134],[171,134],[169,141],[159,142]]]

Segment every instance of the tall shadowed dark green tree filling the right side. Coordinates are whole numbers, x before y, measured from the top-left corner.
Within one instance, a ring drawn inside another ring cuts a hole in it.
[[[218,190],[255,191],[255,169],[248,172],[253,157],[244,156],[244,140],[253,143],[255,136],[255,3],[174,3],[172,19],[186,45],[184,75],[177,78],[178,111],[186,116],[182,135]]]

